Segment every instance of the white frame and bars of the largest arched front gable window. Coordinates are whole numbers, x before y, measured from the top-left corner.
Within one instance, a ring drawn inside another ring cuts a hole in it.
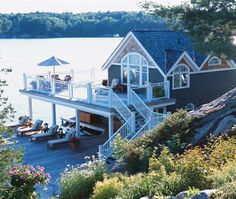
[[[120,63],[120,66],[121,66],[121,68],[120,68],[120,74],[121,74],[121,84],[124,84],[124,85],[127,85],[127,83],[124,83],[123,82],[123,64],[122,64],[122,62],[123,62],[123,60],[127,57],[127,70],[128,70],[128,65],[129,66],[136,66],[135,64],[128,64],[129,63],[129,56],[130,55],[138,55],[139,56],[139,63],[140,63],[140,65],[139,65],[139,84],[138,84],[138,86],[143,86],[143,85],[146,85],[148,82],[149,82],[149,65],[148,65],[148,61],[141,55],[141,54],[139,54],[139,53],[136,53],[136,52],[132,52],[132,53],[128,53],[128,54],[126,54],[123,58],[122,58],[122,60],[121,60],[121,63]],[[147,65],[142,65],[141,64],[141,59],[144,59],[145,60],[145,62],[147,62]],[[145,83],[145,84],[142,84],[142,82],[143,82],[143,76],[142,76],[142,66],[146,66],[147,67],[147,83]],[[127,81],[128,81],[128,78],[127,78]],[[137,84],[130,84],[130,85],[136,85],[137,86]]]

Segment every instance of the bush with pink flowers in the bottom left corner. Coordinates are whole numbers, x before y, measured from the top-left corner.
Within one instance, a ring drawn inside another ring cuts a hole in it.
[[[45,173],[44,167],[34,168],[31,165],[15,166],[9,171],[9,176],[10,184],[15,191],[8,197],[14,198],[14,195],[17,195],[19,199],[36,198],[36,186],[46,187],[51,179],[49,173]]]

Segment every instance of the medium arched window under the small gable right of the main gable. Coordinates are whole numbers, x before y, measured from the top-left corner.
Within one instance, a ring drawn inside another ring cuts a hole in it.
[[[173,89],[188,88],[190,84],[189,67],[180,64],[173,71]]]

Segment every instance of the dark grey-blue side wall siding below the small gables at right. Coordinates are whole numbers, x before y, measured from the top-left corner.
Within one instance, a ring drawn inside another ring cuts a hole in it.
[[[236,70],[195,73],[190,75],[190,88],[172,89],[172,76],[170,81],[170,97],[176,99],[176,108],[184,108],[188,103],[195,107],[208,103],[236,86]]]

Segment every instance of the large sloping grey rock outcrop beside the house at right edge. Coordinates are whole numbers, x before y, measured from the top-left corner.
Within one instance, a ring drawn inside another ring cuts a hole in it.
[[[227,81],[227,80],[226,80]],[[194,137],[192,144],[198,144],[206,138],[219,136],[232,129],[236,124],[236,88],[214,101],[191,111]]]

